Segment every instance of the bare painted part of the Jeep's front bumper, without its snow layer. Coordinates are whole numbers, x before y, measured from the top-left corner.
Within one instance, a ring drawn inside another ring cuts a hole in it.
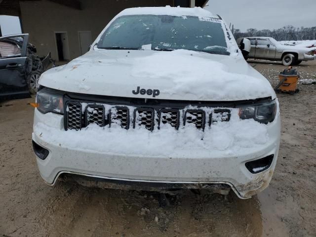
[[[39,124],[54,128],[57,133],[51,134],[51,130],[45,130]],[[271,181],[280,141],[279,115],[274,122],[267,125],[267,130],[269,140],[266,144],[242,149],[236,154],[228,154],[227,151],[214,151],[210,154],[200,148],[181,148],[176,155],[170,156],[146,156],[144,153],[133,155],[129,154],[128,145],[124,144],[121,146],[123,152],[118,154],[106,152],[106,149],[102,152],[82,149],[76,147],[72,141],[64,140],[59,143],[59,138],[69,132],[64,131],[63,116],[51,113],[43,115],[35,110],[32,138],[49,151],[44,160],[37,157],[37,163],[41,177],[50,185],[56,182],[59,175],[72,173],[153,184],[194,184],[200,187],[203,184],[227,184],[238,197],[249,198],[264,190]],[[80,136],[79,131],[77,134]],[[245,167],[247,161],[272,154],[274,159],[271,166],[261,173],[252,174]]]

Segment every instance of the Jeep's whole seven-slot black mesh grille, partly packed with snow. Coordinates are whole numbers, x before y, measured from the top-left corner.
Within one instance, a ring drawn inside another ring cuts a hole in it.
[[[65,105],[65,129],[80,130],[89,124],[99,126],[139,128],[153,131],[155,127],[195,126],[204,129],[205,125],[229,121],[231,111],[228,109],[211,109],[203,107],[197,110],[181,108],[163,108],[162,106],[134,107],[117,106],[103,103],[81,103],[67,101]],[[83,113],[84,112],[84,113]],[[130,126],[130,123],[132,125]]]

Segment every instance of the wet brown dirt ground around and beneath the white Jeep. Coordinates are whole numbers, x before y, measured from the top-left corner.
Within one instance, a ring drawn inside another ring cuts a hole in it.
[[[279,63],[249,61],[273,85]],[[316,79],[316,62],[298,67]],[[0,106],[3,237],[315,237],[316,85],[279,94],[282,130],[269,188],[251,199],[186,191],[161,206],[148,192],[101,190],[40,178],[31,146],[34,99]]]

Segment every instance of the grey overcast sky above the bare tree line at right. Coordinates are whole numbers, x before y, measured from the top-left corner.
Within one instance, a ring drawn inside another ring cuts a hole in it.
[[[316,26],[316,0],[209,0],[207,9],[242,32]]]

